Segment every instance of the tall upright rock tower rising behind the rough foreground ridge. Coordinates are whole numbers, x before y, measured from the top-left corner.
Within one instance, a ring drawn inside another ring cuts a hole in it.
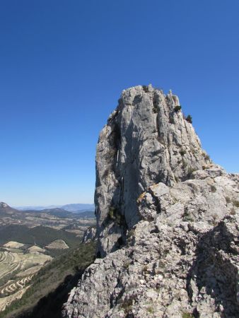
[[[151,86],[122,92],[100,133],[95,206],[101,255],[117,249],[140,220],[137,199],[152,184],[173,185],[209,163],[176,95]]]

